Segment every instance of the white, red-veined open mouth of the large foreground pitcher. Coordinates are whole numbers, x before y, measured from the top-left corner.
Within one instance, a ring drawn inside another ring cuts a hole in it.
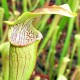
[[[42,34],[33,27],[33,20],[26,20],[23,23],[9,27],[8,39],[11,44],[15,46],[26,46],[43,38]]]

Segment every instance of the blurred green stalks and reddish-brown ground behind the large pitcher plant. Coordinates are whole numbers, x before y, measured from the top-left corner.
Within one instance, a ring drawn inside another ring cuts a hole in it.
[[[8,26],[3,21],[14,21],[23,12],[36,8],[62,4],[68,4],[77,16],[43,15],[34,22],[43,39],[30,80],[80,80],[79,0],[0,0],[0,80],[7,80],[9,59],[9,44],[5,43]]]

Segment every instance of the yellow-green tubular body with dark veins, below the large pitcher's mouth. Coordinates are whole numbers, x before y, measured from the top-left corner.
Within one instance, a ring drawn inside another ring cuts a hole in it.
[[[25,47],[10,45],[9,80],[29,80],[36,64],[38,43]]]

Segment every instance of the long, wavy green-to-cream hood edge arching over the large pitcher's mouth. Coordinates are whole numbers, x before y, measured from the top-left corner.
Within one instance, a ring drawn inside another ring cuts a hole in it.
[[[15,21],[4,21],[4,22],[9,25],[15,25],[17,23],[24,22],[25,20],[30,20],[32,18],[41,16],[42,14],[59,14],[67,17],[74,17],[77,15],[76,13],[73,13],[71,11],[68,4],[64,4],[61,6],[53,5],[53,6],[38,8],[33,12],[25,12],[21,16],[19,16]]]

